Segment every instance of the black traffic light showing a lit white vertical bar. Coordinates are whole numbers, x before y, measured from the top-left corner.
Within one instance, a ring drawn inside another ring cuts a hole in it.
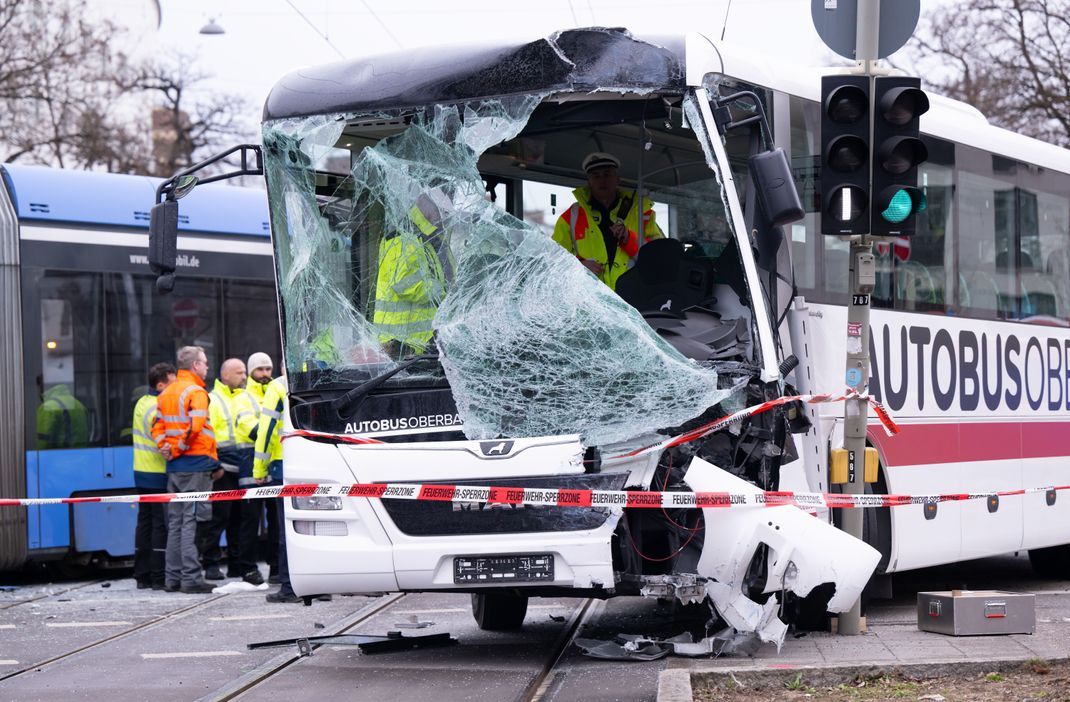
[[[821,232],[865,234],[870,228],[870,79],[821,79]]]

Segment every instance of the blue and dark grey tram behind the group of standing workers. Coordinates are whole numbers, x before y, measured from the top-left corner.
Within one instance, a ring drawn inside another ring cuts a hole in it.
[[[134,493],[131,418],[150,366],[186,345],[215,368],[254,351],[277,357],[264,193],[189,198],[182,279],[165,299],[146,256],[155,179],[15,164],[0,176],[0,493]],[[126,563],[136,516],[129,504],[4,509],[0,569]]]

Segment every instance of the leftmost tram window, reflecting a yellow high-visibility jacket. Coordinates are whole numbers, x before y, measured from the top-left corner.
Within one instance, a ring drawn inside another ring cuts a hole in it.
[[[39,449],[101,446],[107,436],[101,278],[54,271],[41,278]]]

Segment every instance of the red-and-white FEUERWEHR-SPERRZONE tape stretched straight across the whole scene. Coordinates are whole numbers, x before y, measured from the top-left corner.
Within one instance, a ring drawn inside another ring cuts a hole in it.
[[[471,485],[421,485],[412,483],[355,483],[352,485],[296,484],[223,490],[219,492],[167,492],[113,494],[91,498],[0,499],[0,506],[92,504],[102,502],[217,502],[269,498],[340,497],[376,500],[423,500],[428,502],[486,503],[544,507],[778,507],[802,509],[899,507],[912,504],[989,500],[992,498],[1070,490],[1070,485],[1025,488],[1000,492],[952,494],[840,494],[834,492],[656,492],[647,490],[555,490],[546,488],[489,487]]]

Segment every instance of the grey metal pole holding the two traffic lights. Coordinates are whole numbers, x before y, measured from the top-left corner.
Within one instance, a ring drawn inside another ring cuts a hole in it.
[[[880,35],[881,0],[858,0],[858,17],[855,36],[855,58],[861,63],[867,75],[872,75],[873,62],[877,58]],[[872,110],[870,115],[870,142],[873,134]],[[872,177],[870,179],[872,185]],[[870,293],[876,283],[873,260],[873,243],[868,234],[851,242],[851,271],[849,286],[851,305],[847,307],[847,358],[846,384],[861,394],[869,388],[869,337],[870,337]],[[869,421],[869,406],[863,399],[849,399],[843,408],[843,447],[847,451],[847,484],[844,492],[861,494],[866,490],[866,426]],[[841,526],[844,532],[860,539],[862,537],[862,510],[843,509]],[[839,616],[837,631],[843,636],[861,632],[861,599]]]

